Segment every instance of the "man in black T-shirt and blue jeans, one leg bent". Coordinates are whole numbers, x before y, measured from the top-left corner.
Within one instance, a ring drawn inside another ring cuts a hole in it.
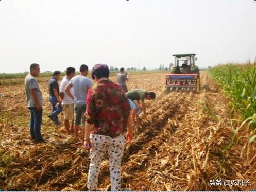
[[[49,80],[49,100],[52,104],[52,113],[48,115],[48,117],[54,121],[56,128],[59,128],[59,119],[58,115],[62,112],[61,106],[61,98],[60,98],[60,90],[58,80],[60,79],[61,72],[55,71],[53,77]]]

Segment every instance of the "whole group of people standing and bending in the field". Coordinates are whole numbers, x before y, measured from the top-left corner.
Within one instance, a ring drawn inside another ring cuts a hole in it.
[[[41,135],[43,96],[36,77],[40,73],[39,64],[30,65],[30,73],[25,78],[27,107],[30,111],[30,135],[35,142],[45,142]],[[88,174],[88,189],[97,188],[100,162],[106,151],[109,154],[111,190],[121,188],[121,161],[126,142],[133,138],[133,125],[139,123],[138,115],[146,116],[145,99],[155,99],[156,94],[142,89],[128,91],[129,80],[124,68],[117,75],[117,83],[109,79],[109,67],[96,64],[91,71],[92,81],[87,77],[88,66],[80,66],[80,74],[75,76],[75,68],[68,67],[66,76],[55,71],[49,80],[49,101],[52,112],[48,115],[58,128],[58,114],[64,112],[64,126],[67,134],[74,130],[79,139],[79,125],[82,124],[83,147],[90,150],[91,163]],[[137,101],[137,104],[135,103]],[[130,111],[132,113],[130,115]]]

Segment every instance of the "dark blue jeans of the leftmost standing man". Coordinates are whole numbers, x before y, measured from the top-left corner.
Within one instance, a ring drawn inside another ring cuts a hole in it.
[[[30,135],[32,139],[40,141],[42,138],[41,135],[41,124],[43,110],[38,111],[37,108],[28,108],[30,110]]]

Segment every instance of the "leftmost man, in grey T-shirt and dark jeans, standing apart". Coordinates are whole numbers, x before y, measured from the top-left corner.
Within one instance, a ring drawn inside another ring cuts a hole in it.
[[[39,64],[30,65],[30,73],[25,78],[25,94],[27,108],[30,111],[30,135],[35,142],[45,142],[41,135],[41,124],[43,115],[43,95],[40,91],[37,77],[40,73]]]

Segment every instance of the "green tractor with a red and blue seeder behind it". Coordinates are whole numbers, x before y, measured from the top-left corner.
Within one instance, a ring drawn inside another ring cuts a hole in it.
[[[195,64],[196,54],[174,54],[173,56],[175,62],[165,76],[164,92],[185,90],[199,93],[200,74]]]

